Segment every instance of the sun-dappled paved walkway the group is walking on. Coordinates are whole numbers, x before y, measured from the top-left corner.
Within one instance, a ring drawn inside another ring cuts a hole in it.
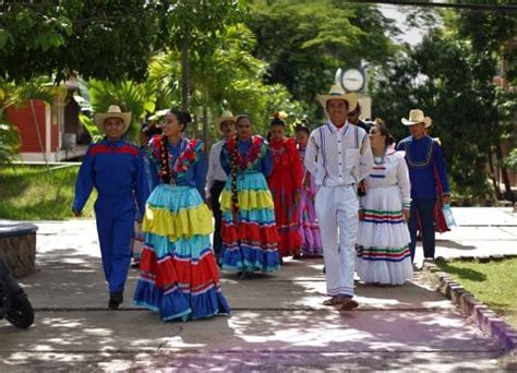
[[[457,208],[437,255],[517,252],[517,216]],[[489,224],[490,221],[490,224]],[[161,323],[134,308],[132,269],[121,311],[107,311],[93,220],[37,222],[39,272],[23,279],[35,325],[0,322],[0,371],[494,370],[500,347],[418,277],[396,288],[357,286],[360,308],[326,299],[322,260],[287,261],[278,274],[223,275],[231,316]]]

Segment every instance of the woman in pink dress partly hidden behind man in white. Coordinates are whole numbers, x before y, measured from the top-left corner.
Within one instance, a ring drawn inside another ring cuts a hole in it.
[[[311,134],[309,128],[304,124],[296,127],[296,140],[298,144],[298,155],[303,166],[305,157],[306,143]],[[300,256],[313,257],[323,256],[322,238],[320,237],[320,227],[317,226],[316,210],[314,209],[314,196],[316,185],[311,172],[303,167],[303,184],[300,193],[300,204],[298,205],[298,232],[301,237]]]

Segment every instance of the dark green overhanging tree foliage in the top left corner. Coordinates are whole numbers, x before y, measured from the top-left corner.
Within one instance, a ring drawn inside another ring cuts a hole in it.
[[[41,0],[0,3],[0,76],[142,81],[159,41],[159,1]]]

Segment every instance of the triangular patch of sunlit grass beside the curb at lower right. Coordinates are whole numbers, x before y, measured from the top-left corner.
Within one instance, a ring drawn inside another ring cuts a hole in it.
[[[517,328],[517,258],[438,262],[437,266]]]

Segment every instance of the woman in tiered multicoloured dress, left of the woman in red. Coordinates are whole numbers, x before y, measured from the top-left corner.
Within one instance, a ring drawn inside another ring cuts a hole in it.
[[[220,196],[223,210],[221,267],[264,273],[279,268],[278,242],[273,197],[266,177],[272,171],[267,143],[253,135],[249,116],[236,119],[237,137],[229,139],[220,154],[228,181]]]

